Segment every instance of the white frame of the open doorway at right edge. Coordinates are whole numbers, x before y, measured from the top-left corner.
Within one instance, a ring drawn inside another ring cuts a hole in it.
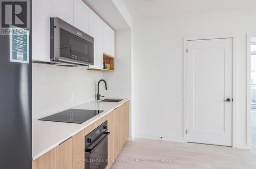
[[[251,149],[251,37],[256,33],[247,33],[246,54],[246,144]]]

